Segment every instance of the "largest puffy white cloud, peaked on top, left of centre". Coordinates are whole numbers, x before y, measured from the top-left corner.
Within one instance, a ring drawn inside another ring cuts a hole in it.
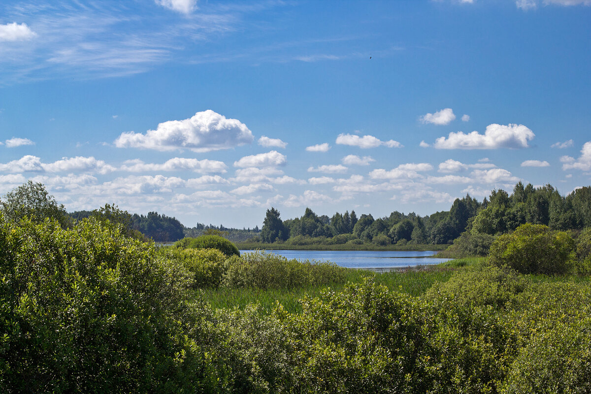
[[[157,129],[148,130],[145,134],[132,131],[121,133],[115,140],[115,146],[157,151],[191,149],[193,152],[210,152],[251,144],[253,140],[252,132],[244,123],[238,119],[226,119],[208,109],[183,121],[160,123]]]

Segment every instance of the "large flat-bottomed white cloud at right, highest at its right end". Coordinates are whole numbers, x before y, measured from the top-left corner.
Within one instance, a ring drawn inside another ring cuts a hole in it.
[[[485,133],[477,131],[471,133],[452,132],[447,139],[437,138],[437,149],[499,149],[499,148],[527,148],[527,142],[533,139],[535,134],[524,125],[492,125],[486,126]]]

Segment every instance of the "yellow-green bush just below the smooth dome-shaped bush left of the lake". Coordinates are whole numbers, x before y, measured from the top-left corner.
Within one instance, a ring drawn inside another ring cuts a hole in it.
[[[217,249],[165,249],[170,260],[182,262],[193,276],[193,288],[217,287],[225,273],[227,257]]]

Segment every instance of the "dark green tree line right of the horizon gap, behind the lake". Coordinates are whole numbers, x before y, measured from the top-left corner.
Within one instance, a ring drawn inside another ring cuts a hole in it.
[[[446,244],[466,231],[475,240],[492,242],[492,237],[511,232],[521,224],[544,224],[553,230],[583,229],[591,226],[591,187],[577,188],[561,196],[552,185],[534,187],[518,182],[513,193],[492,190],[482,201],[466,194],[456,198],[449,211],[428,216],[393,211],[375,219],[371,214],[357,217],[354,210],[332,217],[306,208],[303,216],[281,220],[280,212],[267,210],[256,241],[305,243]]]

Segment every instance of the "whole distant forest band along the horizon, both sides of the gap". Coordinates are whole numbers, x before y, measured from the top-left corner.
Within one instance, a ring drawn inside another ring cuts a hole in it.
[[[565,197],[550,184],[535,188],[519,182],[512,194],[493,190],[482,201],[468,194],[456,198],[449,211],[428,216],[393,211],[389,216],[374,218],[371,214],[358,216],[355,210],[347,210],[329,217],[306,208],[301,217],[281,220],[280,212],[272,207],[267,210],[262,229],[258,226],[234,229],[222,224],[203,223],[185,227],[175,217],[157,212],[130,214],[115,206],[105,207],[108,207],[107,211],[118,212],[117,222],[155,242],[174,242],[212,231],[219,232],[232,242],[287,242],[292,245],[450,244],[463,235],[462,240],[472,242],[478,248],[479,243],[489,244],[494,236],[511,232],[524,223],[545,224],[555,230],[591,226],[591,187],[578,188]],[[76,211],[69,216],[80,220],[92,216],[93,212],[96,211]]]

